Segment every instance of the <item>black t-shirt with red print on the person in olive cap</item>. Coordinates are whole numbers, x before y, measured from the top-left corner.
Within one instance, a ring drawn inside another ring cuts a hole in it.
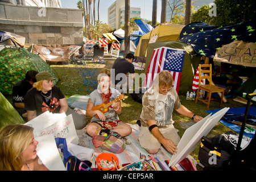
[[[36,116],[47,110],[51,113],[59,113],[61,98],[65,98],[65,96],[59,87],[55,85],[52,88],[52,95],[48,102],[45,97],[42,96],[40,91],[36,90],[36,88],[32,88],[28,90],[25,96],[25,109],[36,110]]]

